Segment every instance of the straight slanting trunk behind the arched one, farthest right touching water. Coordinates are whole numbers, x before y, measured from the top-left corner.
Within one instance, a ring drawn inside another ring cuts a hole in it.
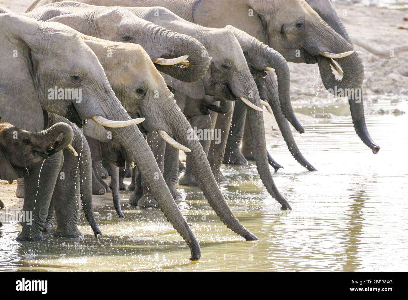
[[[290,125],[283,115],[281,107],[279,105],[279,97],[275,93],[277,88],[275,78],[273,78],[272,74],[268,74],[266,78],[264,78],[264,80],[265,81],[255,80],[255,82],[259,81],[258,87],[262,87],[258,88],[259,96],[261,97],[261,99],[265,99],[269,103],[269,105],[271,105],[273,116],[275,116],[276,122],[278,123],[279,129],[282,133],[282,137],[284,138],[290,153],[292,154],[293,158],[295,158],[295,160],[299,162],[300,165],[302,165],[309,171],[316,171],[315,167],[313,167],[313,165],[310,164],[306,160],[306,158],[304,158],[299,148],[297,147],[295,139],[293,138],[292,131],[290,130]]]

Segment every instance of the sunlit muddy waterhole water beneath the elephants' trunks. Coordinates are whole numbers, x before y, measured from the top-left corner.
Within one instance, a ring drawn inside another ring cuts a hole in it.
[[[407,102],[376,108],[408,111]],[[325,112],[344,111],[341,105]],[[314,112],[314,108],[306,112]],[[340,114],[341,115],[341,114]],[[107,202],[96,207],[104,235],[94,238],[81,216],[84,238],[47,234],[44,242],[16,242],[16,222],[0,229],[0,270],[31,271],[406,271],[408,260],[408,114],[367,116],[381,151],[357,138],[350,118],[330,119],[297,136],[308,172],[286,145],[270,147],[285,169],[275,182],[293,211],[284,213],[260,184],[256,167],[224,167],[222,191],[239,220],[259,237],[246,242],[220,223],[196,188],[181,187],[179,207],[200,240],[199,263],[157,209],[128,207],[119,220]],[[110,196],[110,194],[109,194]],[[128,195],[122,195],[128,199]]]

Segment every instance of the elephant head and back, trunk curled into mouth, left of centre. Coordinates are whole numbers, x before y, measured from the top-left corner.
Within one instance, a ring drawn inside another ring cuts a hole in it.
[[[159,71],[183,82],[201,79],[209,66],[205,48],[195,38],[137,18],[122,7],[101,8],[78,2],[57,2],[27,15],[60,22],[88,36],[140,44]],[[182,67],[183,64],[188,67]]]

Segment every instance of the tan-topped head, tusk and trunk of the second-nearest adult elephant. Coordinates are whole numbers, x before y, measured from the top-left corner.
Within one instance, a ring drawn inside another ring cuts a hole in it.
[[[257,239],[242,226],[226,204],[212,176],[209,164],[202,163],[206,161],[206,156],[200,142],[188,138],[193,129],[143,48],[132,43],[104,41],[93,37],[84,38],[104,66],[112,89],[129,114],[135,117],[146,117],[142,125],[144,130],[157,131],[173,147],[188,152],[187,155],[192,157],[196,166],[197,181],[200,182],[204,195],[217,215],[235,233],[247,240]],[[112,144],[106,147],[113,146]],[[109,156],[106,155],[106,157]],[[119,157],[122,159],[118,160]],[[123,163],[128,161],[129,157],[126,153],[122,153],[109,160]],[[142,175],[144,176],[143,173]],[[160,207],[165,205],[157,202]]]

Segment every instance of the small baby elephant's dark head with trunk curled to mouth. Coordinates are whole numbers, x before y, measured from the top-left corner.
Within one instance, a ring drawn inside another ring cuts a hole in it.
[[[69,125],[57,123],[41,132],[29,132],[0,123],[0,179],[27,177],[27,166],[42,162],[50,155],[69,146],[73,131]]]

